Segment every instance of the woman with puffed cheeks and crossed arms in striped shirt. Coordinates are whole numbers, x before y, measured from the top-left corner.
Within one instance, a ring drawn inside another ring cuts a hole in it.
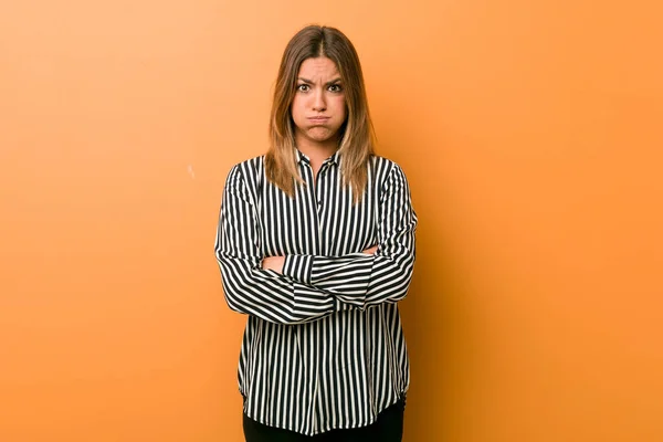
[[[417,215],[371,129],[350,41],[299,31],[278,70],[270,148],[230,171],[215,243],[228,305],[249,315],[248,442],[402,438],[410,371],[397,303]]]

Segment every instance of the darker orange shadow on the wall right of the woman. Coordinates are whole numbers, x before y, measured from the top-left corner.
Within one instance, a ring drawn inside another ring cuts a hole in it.
[[[445,200],[452,192],[444,188],[448,181],[439,179],[444,171],[438,168],[443,164],[444,150],[423,157],[402,148],[431,140],[399,115],[397,109],[408,106],[394,99],[387,93],[378,97],[381,108],[389,109],[381,115],[378,155],[403,167],[419,218],[412,285],[399,306],[411,362],[404,440],[442,441],[457,435],[463,422],[472,419],[463,413],[473,407],[464,407],[461,401],[472,397],[469,391],[477,379],[480,318],[470,306],[472,285],[463,281],[466,272],[449,239],[454,229],[449,225],[453,218],[448,213],[454,204]],[[436,138],[443,137],[438,134]],[[425,434],[421,433],[423,429]]]

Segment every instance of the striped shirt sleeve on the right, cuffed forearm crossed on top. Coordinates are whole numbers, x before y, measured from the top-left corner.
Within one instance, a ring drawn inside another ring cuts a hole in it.
[[[378,251],[375,255],[288,255],[284,274],[334,295],[357,308],[406,297],[414,264],[417,214],[407,178],[396,164],[379,201]]]

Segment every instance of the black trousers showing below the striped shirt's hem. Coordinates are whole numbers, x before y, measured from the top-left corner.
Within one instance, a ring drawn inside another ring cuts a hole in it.
[[[404,409],[406,400],[401,399],[368,427],[332,430],[314,436],[267,427],[244,414],[244,438],[246,442],[401,442]]]

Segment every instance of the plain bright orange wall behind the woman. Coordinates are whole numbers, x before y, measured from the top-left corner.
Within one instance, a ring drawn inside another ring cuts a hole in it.
[[[217,211],[308,22],[421,219],[406,440],[663,440],[654,3],[3,2],[0,441],[242,440]]]

